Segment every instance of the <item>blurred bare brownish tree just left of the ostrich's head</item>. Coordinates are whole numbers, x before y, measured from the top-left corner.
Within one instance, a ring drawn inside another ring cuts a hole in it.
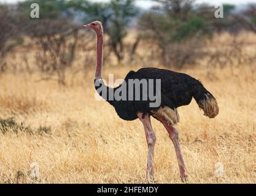
[[[30,4],[40,6],[40,17],[30,18]],[[64,0],[28,0],[19,4],[20,15],[25,18],[24,32],[38,46],[36,64],[47,74],[43,79],[52,79],[56,74],[60,85],[65,85],[66,69],[72,66],[75,57],[79,27],[75,25]]]

